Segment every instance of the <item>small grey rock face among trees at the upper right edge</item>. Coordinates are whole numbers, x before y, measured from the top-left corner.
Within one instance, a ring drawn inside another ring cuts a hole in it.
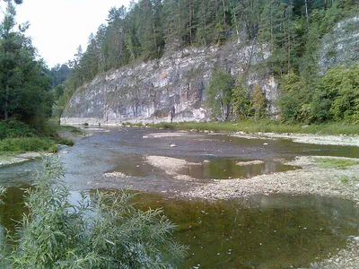
[[[322,39],[320,67],[324,72],[336,64],[353,64],[359,61],[359,16],[338,22]]]

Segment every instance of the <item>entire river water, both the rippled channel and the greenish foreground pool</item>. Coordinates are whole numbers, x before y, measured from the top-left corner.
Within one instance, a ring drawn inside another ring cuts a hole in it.
[[[74,147],[61,148],[65,180],[74,193],[97,188],[132,188],[138,206],[162,207],[178,224],[174,238],[188,245],[180,268],[289,268],[308,266],[317,257],[346,247],[358,235],[359,214],[346,200],[314,195],[258,195],[250,199],[203,201],[179,199],[196,182],[211,178],[249,178],[258,174],[298,169],[282,161],[297,155],[357,157],[357,147],[260,140],[225,134],[171,133],[143,128],[94,129]],[[166,134],[162,134],[166,133]],[[170,145],[175,143],[176,147]],[[200,162],[180,173],[197,178],[183,182],[144,161],[147,155]],[[203,163],[203,161],[205,161]],[[262,161],[237,166],[238,161]],[[207,162],[209,161],[209,162]],[[9,187],[0,205],[2,229],[14,229],[23,207],[23,187],[31,182],[36,161],[0,169],[0,184]],[[106,178],[118,172],[123,178]]]

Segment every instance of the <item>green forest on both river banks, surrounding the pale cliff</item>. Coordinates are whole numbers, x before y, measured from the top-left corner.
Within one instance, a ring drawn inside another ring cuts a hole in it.
[[[51,115],[53,101],[57,105],[52,112],[58,117],[74,91],[97,74],[189,46],[222,46],[241,40],[270,52],[261,67],[279,84],[277,116],[281,120],[357,123],[358,52],[350,61],[326,70],[320,69],[319,53],[323,37],[338,22],[358,13],[357,0],[132,1],[127,8],[111,8],[107,23],[90,35],[87,48],[77,49],[72,61],[48,70],[35,59],[36,48],[25,33],[29,25],[14,30],[15,10],[10,7],[1,28],[1,68],[11,71],[2,72],[1,118],[40,121]],[[358,24],[353,20],[346,30],[357,30]],[[258,71],[256,66],[249,68]],[[214,109],[215,118],[268,116],[261,89],[248,87],[245,76],[215,70],[208,102],[216,107],[211,96],[217,94],[211,91],[225,92],[227,101],[225,113]],[[226,86],[218,90],[215,85],[223,80]]]

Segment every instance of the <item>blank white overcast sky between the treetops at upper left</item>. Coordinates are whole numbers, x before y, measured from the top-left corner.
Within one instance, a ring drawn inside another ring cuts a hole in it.
[[[1,1],[3,2],[3,1]],[[129,0],[23,0],[16,21],[31,23],[27,35],[45,58],[48,67],[67,63],[76,48],[87,47],[90,34],[106,22],[112,6],[129,5]],[[5,4],[1,4],[5,10]]]

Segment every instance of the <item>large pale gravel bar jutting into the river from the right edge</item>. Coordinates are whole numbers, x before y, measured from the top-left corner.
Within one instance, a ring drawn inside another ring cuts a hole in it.
[[[320,168],[323,159],[355,161],[345,168]],[[357,162],[356,162],[357,161]],[[213,179],[183,196],[204,199],[230,199],[251,195],[322,195],[354,201],[359,207],[359,159],[302,156],[286,165],[302,169],[260,175],[253,178]]]

